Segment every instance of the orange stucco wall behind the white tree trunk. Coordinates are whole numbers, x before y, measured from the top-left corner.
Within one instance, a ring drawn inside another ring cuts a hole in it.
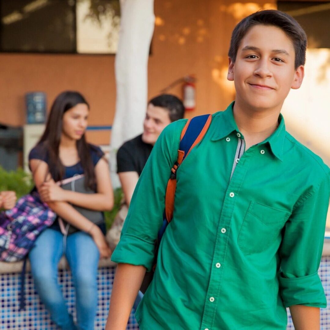
[[[149,57],[149,97],[171,82],[194,74],[196,103],[186,117],[224,109],[234,98],[226,81],[231,30],[244,16],[275,1],[155,0],[155,31]],[[47,93],[48,104],[66,89],[78,90],[91,105],[90,125],[111,125],[116,85],[112,55],[0,54],[0,122],[25,122],[24,95]],[[169,90],[182,96],[181,86]],[[108,144],[110,132],[89,132],[93,143]]]

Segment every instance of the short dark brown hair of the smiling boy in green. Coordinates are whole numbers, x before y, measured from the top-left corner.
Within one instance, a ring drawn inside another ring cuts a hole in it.
[[[305,65],[307,36],[304,29],[290,15],[279,10],[262,10],[243,18],[234,28],[231,35],[228,56],[236,60],[237,50],[248,30],[255,25],[273,25],[283,30],[292,40],[295,50],[295,69]]]

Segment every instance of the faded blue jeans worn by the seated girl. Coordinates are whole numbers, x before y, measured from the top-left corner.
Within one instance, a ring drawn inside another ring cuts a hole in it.
[[[76,289],[77,327],[69,314],[57,282],[57,265],[65,254]],[[40,299],[50,312],[51,319],[63,330],[93,330],[97,310],[97,267],[99,250],[93,239],[84,232],[67,237],[46,229],[29,253],[31,271]]]

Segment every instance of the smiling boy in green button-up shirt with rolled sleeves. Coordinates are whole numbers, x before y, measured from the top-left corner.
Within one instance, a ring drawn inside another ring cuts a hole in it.
[[[234,29],[228,79],[236,99],[213,115],[177,172],[172,222],[137,311],[142,330],[318,330],[326,299],[317,269],[330,169],[285,131],[280,114],[304,77],[306,34],[260,11]],[[108,329],[125,329],[153,261],[165,187],[185,120],[165,128],[134,192],[121,240]]]

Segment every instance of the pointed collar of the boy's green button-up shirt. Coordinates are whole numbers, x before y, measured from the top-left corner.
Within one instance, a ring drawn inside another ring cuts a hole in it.
[[[218,115],[213,118],[213,121],[215,122],[215,132],[211,138],[212,141],[220,140],[232,133],[233,131],[240,133],[233,114],[234,103],[235,101],[232,102],[225,111],[219,112]],[[279,126],[277,127],[276,131],[265,141],[261,142],[261,144],[268,143],[274,156],[281,161],[283,154],[284,137],[285,123],[282,114],[280,114]]]

